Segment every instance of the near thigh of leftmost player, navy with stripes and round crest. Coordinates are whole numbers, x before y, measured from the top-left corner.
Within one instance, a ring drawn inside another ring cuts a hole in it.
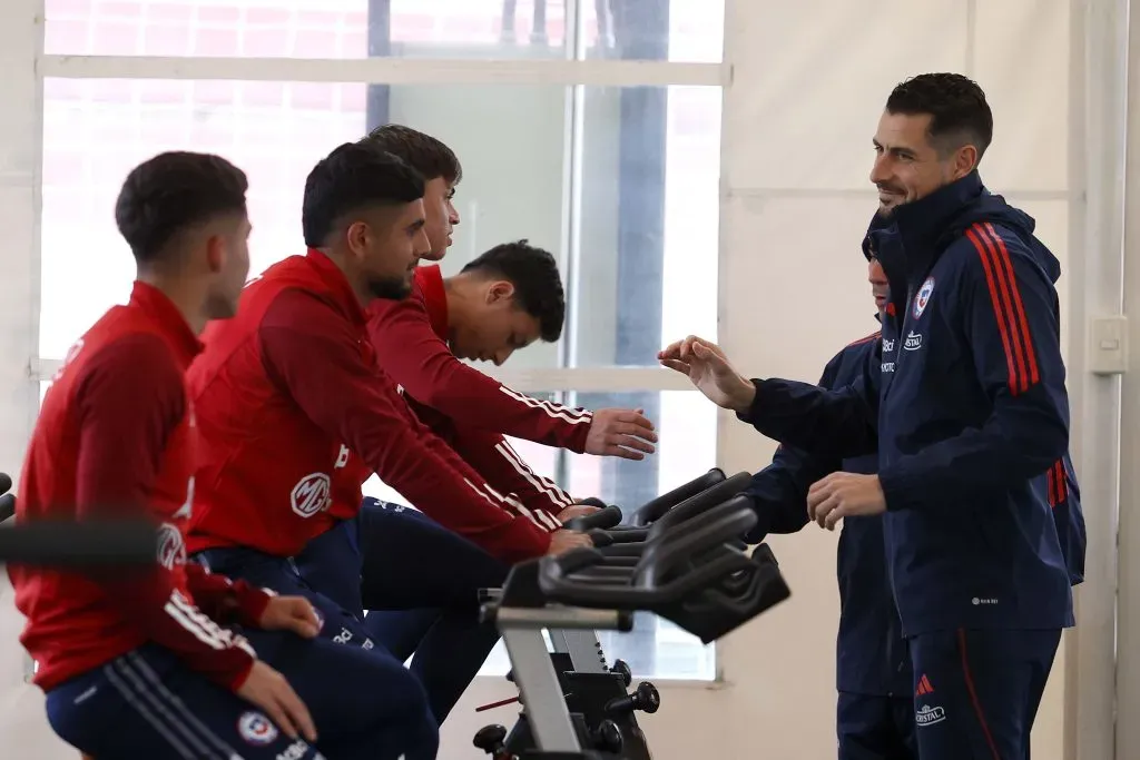
[[[97,760],[324,760],[256,708],[156,647],[52,689],[47,710],[59,737]]]

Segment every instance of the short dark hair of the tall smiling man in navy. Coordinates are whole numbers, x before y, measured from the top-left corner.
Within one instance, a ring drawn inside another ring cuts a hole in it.
[[[928,134],[939,154],[974,145],[978,161],[994,136],[994,115],[978,83],[961,74],[919,74],[887,98],[887,113],[930,115]]]

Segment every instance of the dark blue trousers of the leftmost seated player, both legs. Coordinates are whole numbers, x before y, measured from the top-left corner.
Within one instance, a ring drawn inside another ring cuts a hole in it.
[[[291,634],[255,631],[251,643],[308,705],[317,726],[316,747],[287,738],[254,705],[157,645],[140,647],[52,689],[47,696],[48,719],[60,738],[99,760],[435,757],[438,730],[422,696],[414,696],[418,686],[399,673],[404,669],[394,660]],[[396,680],[404,680],[404,694],[386,692],[389,698],[373,698],[372,684]],[[359,698],[361,693],[369,698]]]

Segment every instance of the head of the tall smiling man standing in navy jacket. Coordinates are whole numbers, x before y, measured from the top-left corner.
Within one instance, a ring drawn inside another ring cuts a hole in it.
[[[972,172],[993,139],[986,96],[961,74],[922,74],[887,98],[874,134],[871,182],[889,215]]]

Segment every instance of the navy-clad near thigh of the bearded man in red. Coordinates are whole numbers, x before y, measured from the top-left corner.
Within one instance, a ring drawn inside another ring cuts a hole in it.
[[[303,596],[309,599],[321,620],[321,638],[366,649],[375,646],[365,630],[364,621],[306,583],[291,559],[251,549],[209,549],[195,555],[194,559],[203,563],[211,572],[233,580],[244,580],[282,596]]]

